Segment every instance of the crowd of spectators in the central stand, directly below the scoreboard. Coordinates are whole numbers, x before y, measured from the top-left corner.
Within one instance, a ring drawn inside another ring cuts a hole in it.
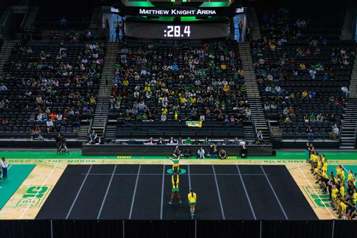
[[[244,72],[238,49],[220,43],[118,49],[110,112],[117,121],[249,120]],[[109,83],[111,80],[111,83]],[[168,118],[169,117],[169,118]]]

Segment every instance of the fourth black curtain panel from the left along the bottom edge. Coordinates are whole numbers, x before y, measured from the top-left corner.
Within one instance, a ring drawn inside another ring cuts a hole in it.
[[[197,220],[197,238],[256,238],[259,235],[260,221]]]

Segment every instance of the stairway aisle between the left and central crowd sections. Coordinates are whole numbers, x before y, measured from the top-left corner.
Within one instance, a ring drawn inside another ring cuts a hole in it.
[[[111,49],[112,48],[112,49]],[[114,65],[117,56],[117,44],[107,42],[107,51],[104,61],[102,79],[100,81],[99,95],[97,97],[97,106],[95,108],[92,130],[95,130],[98,136],[103,136],[104,121],[108,118],[111,80],[114,75]],[[109,86],[105,87],[105,76],[109,78]]]

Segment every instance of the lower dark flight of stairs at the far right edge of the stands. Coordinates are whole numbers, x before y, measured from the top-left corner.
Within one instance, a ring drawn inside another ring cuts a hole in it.
[[[347,110],[343,113],[343,128],[341,132],[341,145],[340,148],[343,149],[353,149],[355,148],[355,132],[356,132],[356,124],[357,124],[357,117],[356,117],[356,110],[357,108],[353,108],[353,101],[355,98],[349,98],[348,102],[346,103]],[[352,116],[352,108],[353,113]]]

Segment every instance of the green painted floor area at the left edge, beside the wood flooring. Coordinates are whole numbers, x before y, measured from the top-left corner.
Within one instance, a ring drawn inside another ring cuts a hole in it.
[[[10,167],[11,166],[11,167]],[[35,168],[36,164],[10,164],[7,175],[9,179],[0,181],[1,196],[0,196],[0,209],[5,206],[7,201],[25,181],[27,176]]]

